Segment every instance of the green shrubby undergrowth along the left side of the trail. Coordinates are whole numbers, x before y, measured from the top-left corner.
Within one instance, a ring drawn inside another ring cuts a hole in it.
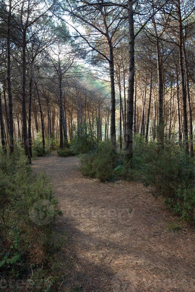
[[[0,153],[0,200],[0,291],[51,291],[57,279],[52,271],[57,201],[21,148]]]

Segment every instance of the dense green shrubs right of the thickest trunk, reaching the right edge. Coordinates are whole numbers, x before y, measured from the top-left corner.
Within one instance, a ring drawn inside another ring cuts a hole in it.
[[[185,154],[176,143],[146,144],[134,137],[133,159],[123,159],[115,168],[115,175],[123,179],[137,179],[146,187],[152,186],[155,196],[161,195],[164,204],[184,220],[193,219],[195,207],[194,158]]]

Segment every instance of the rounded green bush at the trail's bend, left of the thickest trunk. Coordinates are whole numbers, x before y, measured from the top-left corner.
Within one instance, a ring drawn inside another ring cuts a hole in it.
[[[100,142],[94,153],[87,154],[81,159],[81,173],[90,178],[107,181],[113,177],[116,158],[111,142]]]

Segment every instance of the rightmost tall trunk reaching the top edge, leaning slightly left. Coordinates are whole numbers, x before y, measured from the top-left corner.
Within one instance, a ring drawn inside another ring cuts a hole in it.
[[[182,87],[182,106],[183,106],[183,143],[185,147],[185,152],[189,153],[188,147],[188,119],[186,111],[186,91],[185,91],[185,78],[183,70],[183,56],[182,56],[182,18],[180,9],[180,0],[177,0],[177,15],[178,15],[178,25],[179,25],[179,68],[181,77],[181,87]]]

